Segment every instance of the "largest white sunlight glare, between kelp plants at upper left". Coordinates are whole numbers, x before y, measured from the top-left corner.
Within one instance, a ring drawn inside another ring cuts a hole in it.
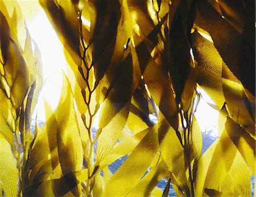
[[[32,117],[35,118],[36,112],[38,112],[38,120],[44,120],[44,99],[53,110],[57,107],[62,86],[61,70],[66,72],[67,63],[63,46],[43,10],[28,24],[28,30],[41,52],[44,77],[43,89]]]

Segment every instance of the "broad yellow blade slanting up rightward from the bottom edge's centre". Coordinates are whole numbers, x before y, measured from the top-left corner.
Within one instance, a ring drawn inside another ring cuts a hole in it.
[[[103,196],[127,195],[146,172],[157,150],[157,131],[153,127],[113,174]]]

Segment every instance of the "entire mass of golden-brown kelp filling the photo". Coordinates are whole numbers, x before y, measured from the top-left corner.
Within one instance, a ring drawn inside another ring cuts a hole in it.
[[[0,3],[6,196],[168,196],[170,184],[177,196],[251,195],[254,3],[39,0],[70,72],[63,74],[59,105],[45,103],[46,123],[34,135],[40,53],[26,28],[24,49],[19,44],[18,4]],[[220,112],[220,137],[204,153],[198,88]],[[113,173],[109,166],[123,157]]]

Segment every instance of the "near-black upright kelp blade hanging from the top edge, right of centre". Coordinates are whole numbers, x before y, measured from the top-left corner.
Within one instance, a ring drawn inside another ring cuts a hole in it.
[[[191,9],[191,1],[179,1],[179,6],[175,9],[175,16],[169,19],[169,28],[167,37],[166,52],[168,53],[167,62],[170,69],[170,75],[174,90],[176,92],[176,100],[179,103],[181,93],[183,92],[185,82],[189,76],[191,67],[191,55],[189,44],[189,33],[193,25],[193,16],[189,12]],[[174,6],[170,5],[170,12],[174,12]],[[177,47],[179,46],[179,47]]]

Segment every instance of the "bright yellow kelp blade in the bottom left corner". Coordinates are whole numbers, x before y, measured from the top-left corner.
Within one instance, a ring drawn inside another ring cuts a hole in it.
[[[5,196],[16,196],[18,169],[9,142],[0,133],[0,191]]]

